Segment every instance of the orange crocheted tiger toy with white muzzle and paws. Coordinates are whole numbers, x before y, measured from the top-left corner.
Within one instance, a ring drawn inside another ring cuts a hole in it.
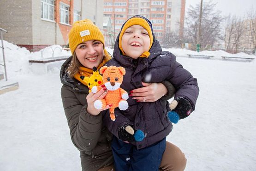
[[[94,107],[96,109],[105,108],[108,104],[112,104],[109,108],[109,114],[111,120],[115,120],[114,109],[119,107],[120,110],[126,110],[128,108],[127,99],[129,98],[128,93],[120,88],[123,82],[123,77],[125,75],[125,68],[123,67],[101,67],[100,74],[102,74],[103,84],[106,86],[108,92],[105,98],[101,100],[96,100],[94,102]],[[92,87],[92,92],[96,93],[102,87],[94,86]]]

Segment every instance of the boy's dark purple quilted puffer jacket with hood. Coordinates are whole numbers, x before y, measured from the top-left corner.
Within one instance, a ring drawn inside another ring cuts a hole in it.
[[[168,52],[162,51],[157,40],[154,39],[148,58],[139,57],[134,60],[131,57],[121,55],[119,51],[119,36],[116,39],[113,59],[106,63],[106,66],[122,66],[126,74],[121,85],[125,91],[143,87],[143,82],[156,83],[163,80],[170,81],[176,89],[175,97],[185,97],[195,109],[196,99],[199,94],[197,80],[190,72],[176,62],[176,57]],[[109,114],[104,117],[104,122],[109,131],[119,138],[119,126],[125,123],[133,125],[135,129],[142,130],[146,137],[141,142],[132,144],[137,149],[145,148],[166,137],[172,130],[172,124],[167,118],[168,102],[157,100],[154,103],[137,103],[136,100],[129,97],[127,100],[129,108],[120,111],[115,108],[116,120],[111,121]]]

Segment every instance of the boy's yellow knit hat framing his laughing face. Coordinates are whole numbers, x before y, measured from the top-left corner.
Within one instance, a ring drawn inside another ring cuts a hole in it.
[[[122,51],[122,54],[125,55],[125,52],[123,51],[123,48],[121,46],[121,40],[123,37],[123,34],[125,33],[125,30],[128,29],[129,27],[131,27],[132,25],[140,25],[142,26],[144,29],[147,30],[147,32],[149,33],[149,38],[150,38],[150,45],[149,45],[149,49],[151,48],[152,44],[153,44],[153,33],[152,33],[152,24],[151,22],[143,17],[143,16],[133,16],[130,19],[128,19],[124,25],[122,26],[122,29],[120,31],[120,35],[119,35],[119,48]],[[150,53],[148,51],[144,52],[143,55],[141,57],[149,57]]]

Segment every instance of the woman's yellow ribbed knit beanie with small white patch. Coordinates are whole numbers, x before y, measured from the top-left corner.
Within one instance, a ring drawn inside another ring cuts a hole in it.
[[[99,40],[104,46],[105,41],[101,30],[89,19],[79,20],[73,23],[68,35],[71,54],[74,53],[77,46],[88,40]]]

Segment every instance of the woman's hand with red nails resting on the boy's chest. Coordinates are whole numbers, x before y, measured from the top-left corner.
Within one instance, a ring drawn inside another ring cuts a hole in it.
[[[131,91],[129,96],[133,96],[137,102],[155,102],[167,94],[167,88],[162,83],[144,83],[144,87]]]

